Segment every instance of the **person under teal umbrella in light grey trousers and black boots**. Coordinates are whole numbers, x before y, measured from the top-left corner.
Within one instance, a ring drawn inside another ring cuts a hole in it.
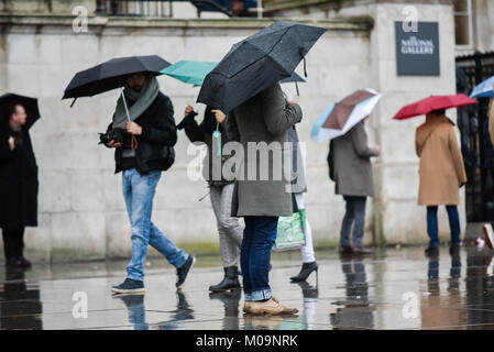
[[[215,211],[217,220],[220,252],[224,271],[223,279],[217,285],[209,286],[209,290],[221,293],[240,289],[237,250],[240,249],[242,243],[243,228],[240,226],[239,219],[231,216],[234,179],[226,179],[223,173],[221,173],[220,177],[215,177],[216,173],[213,170],[213,167],[220,167],[219,172],[221,172],[223,164],[229,158],[221,153],[221,145],[229,142],[227,133],[224,132],[224,116],[219,117],[217,120],[210,107],[206,108],[205,118],[200,124],[196,122],[194,116],[194,109],[190,106],[187,107],[185,109],[183,125],[190,142],[206,143],[208,147],[208,153],[202,161],[202,170],[205,174],[204,177],[208,182],[212,210]],[[213,145],[216,147],[218,144],[220,145],[219,152],[217,152],[218,148],[213,148]],[[218,157],[218,155],[220,158],[219,163],[213,163],[215,157]]]

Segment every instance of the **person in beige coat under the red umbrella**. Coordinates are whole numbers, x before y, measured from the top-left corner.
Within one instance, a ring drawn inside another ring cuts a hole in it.
[[[439,252],[438,206],[446,206],[451,230],[451,251],[460,246],[460,187],[466,183],[463,157],[454,132],[454,123],[436,110],[426,116],[415,134],[420,157],[418,204],[427,206],[428,255]]]

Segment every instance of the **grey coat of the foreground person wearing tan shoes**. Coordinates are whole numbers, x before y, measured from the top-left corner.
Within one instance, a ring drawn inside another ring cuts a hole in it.
[[[286,142],[288,129],[300,120],[300,107],[296,103],[286,106],[279,84],[266,88],[229,113],[227,134],[230,140],[240,142],[244,152],[233,191],[232,216],[289,217],[297,211],[290,183],[292,151]],[[270,152],[267,164],[262,165],[262,153],[249,152],[249,142],[251,146],[276,142],[272,145],[278,145],[281,152]],[[268,175],[261,178],[266,166]],[[252,170],[255,170],[254,177],[249,175]]]

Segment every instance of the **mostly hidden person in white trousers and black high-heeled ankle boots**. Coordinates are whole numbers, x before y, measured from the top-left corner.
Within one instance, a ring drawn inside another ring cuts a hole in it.
[[[293,172],[295,175],[293,182],[293,190],[295,194],[295,200],[297,201],[298,209],[305,209],[304,204],[304,194],[307,193],[307,182],[304,170],[304,160],[301,157],[300,145],[298,142],[298,134],[295,125],[288,129],[288,142],[292,143],[292,165]],[[310,223],[306,217],[305,223],[305,232],[306,232],[306,243],[300,249],[301,252],[301,268],[298,275],[292,276],[290,280],[293,283],[305,282],[309,277],[312,272],[318,271],[318,265],[316,262],[316,255],[314,253],[312,245],[312,230],[310,228]]]

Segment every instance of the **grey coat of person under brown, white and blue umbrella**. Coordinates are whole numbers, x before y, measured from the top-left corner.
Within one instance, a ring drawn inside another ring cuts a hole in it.
[[[363,121],[332,141],[336,194],[374,197],[371,157],[380,152],[367,146]]]

